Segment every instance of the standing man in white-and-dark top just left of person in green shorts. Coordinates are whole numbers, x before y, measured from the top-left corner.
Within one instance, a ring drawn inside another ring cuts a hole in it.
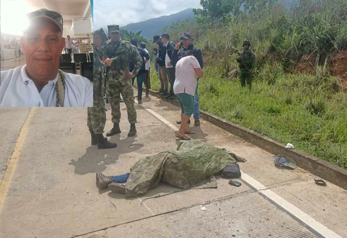
[[[166,57],[165,57],[165,65],[166,65],[166,73],[169,78],[170,82],[170,92],[168,95],[164,96],[164,98],[169,98],[169,99],[175,99],[174,93],[173,93],[173,84],[174,84],[174,67],[171,64],[171,57],[173,54],[174,50],[174,43],[170,41],[170,35],[168,33],[163,33],[162,36],[162,41],[164,44],[166,44]]]

